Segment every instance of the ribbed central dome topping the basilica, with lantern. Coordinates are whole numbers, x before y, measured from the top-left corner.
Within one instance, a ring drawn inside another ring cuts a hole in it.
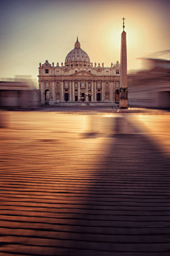
[[[77,42],[75,43],[74,49],[67,54],[67,57],[65,59],[65,64],[77,63],[77,62],[90,64],[89,55],[84,50],[81,49],[78,38],[77,38]]]

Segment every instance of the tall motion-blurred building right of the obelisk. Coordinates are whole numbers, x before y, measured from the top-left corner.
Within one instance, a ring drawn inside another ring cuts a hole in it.
[[[128,75],[128,105],[170,109],[170,60],[141,59],[144,69]]]

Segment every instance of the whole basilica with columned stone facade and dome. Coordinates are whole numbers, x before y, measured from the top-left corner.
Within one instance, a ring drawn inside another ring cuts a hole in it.
[[[106,105],[119,102],[120,63],[91,63],[89,55],[81,49],[79,40],[65,59],[64,65],[39,66],[40,103],[42,105]]]

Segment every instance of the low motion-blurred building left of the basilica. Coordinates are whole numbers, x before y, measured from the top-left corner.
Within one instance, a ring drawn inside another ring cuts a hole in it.
[[[16,76],[0,81],[1,108],[34,108],[38,101],[38,90],[30,78]]]

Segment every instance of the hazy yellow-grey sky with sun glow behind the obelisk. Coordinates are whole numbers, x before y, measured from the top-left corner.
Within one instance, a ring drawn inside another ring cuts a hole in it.
[[[109,67],[120,61],[123,17],[128,72],[170,49],[169,0],[0,0],[0,14],[0,78],[37,82],[39,63],[64,63],[77,36],[92,63]]]

